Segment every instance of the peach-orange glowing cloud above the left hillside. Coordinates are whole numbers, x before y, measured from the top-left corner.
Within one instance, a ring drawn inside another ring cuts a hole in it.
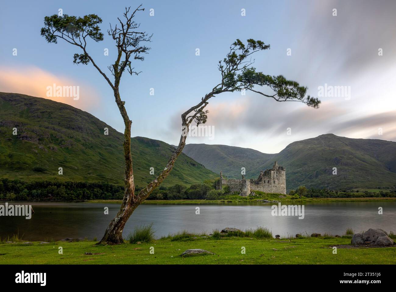
[[[79,86],[79,99],[74,100],[71,96],[48,97],[47,86],[53,86],[53,84],[56,86]],[[68,77],[56,76],[38,67],[19,69],[0,67],[0,91],[47,98],[84,111],[96,109],[99,98],[99,94],[92,86]]]

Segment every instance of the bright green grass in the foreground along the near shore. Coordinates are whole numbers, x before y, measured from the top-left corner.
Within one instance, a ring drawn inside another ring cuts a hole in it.
[[[32,245],[0,243],[0,264],[395,264],[396,247],[337,248],[350,238],[298,238],[292,240],[222,237],[172,241],[162,238],[151,243],[95,245],[93,241],[56,242]],[[62,246],[63,254],[58,254]],[[154,254],[150,254],[154,247]],[[241,254],[241,248],[246,254]],[[179,255],[190,248],[202,248],[215,255]],[[86,255],[85,253],[92,253]]]

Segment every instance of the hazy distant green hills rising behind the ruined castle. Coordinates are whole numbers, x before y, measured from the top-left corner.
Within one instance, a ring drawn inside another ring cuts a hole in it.
[[[325,134],[293,142],[278,154],[225,145],[187,146],[188,156],[215,173],[222,170],[229,178],[240,178],[242,166],[247,178],[257,178],[260,170],[278,161],[286,168],[287,190],[298,186],[352,189],[396,184],[396,142]],[[337,175],[333,175],[333,167],[337,167]]]

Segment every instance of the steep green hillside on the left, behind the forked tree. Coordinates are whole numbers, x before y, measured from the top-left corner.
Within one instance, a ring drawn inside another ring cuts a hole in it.
[[[123,134],[93,115],[67,104],[0,92],[0,177],[23,181],[105,181],[122,184]],[[13,128],[17,135],[13,135]],[[104,128],[109,128],[109,135]],[[143,186],[164,169],[173,147],[132,138],[135,182]],[[63,167],[63,175],[58,168]],[[165,186],[202,183],[218,177],[181,154]]]

